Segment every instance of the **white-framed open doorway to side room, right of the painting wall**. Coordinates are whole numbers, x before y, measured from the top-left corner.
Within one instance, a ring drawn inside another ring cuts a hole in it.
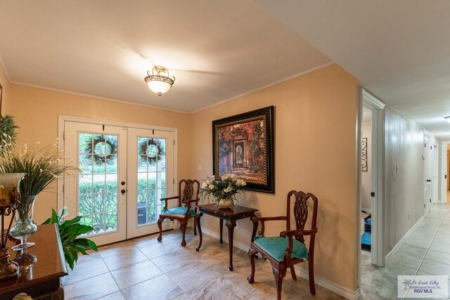
[[[359,115],[359,205],[356,214],[359,237],[358,280],[366,289],[371,265],[385,266],[383,251],[383,173],[385,104],[361,88]],[[370,280],[369,280],[370,281]]]

